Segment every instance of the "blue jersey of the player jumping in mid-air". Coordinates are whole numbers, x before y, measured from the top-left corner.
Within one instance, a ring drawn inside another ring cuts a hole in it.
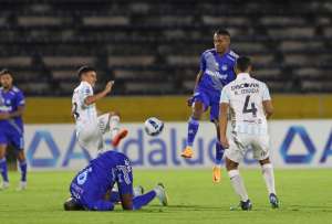
[[[222,87],[236,78],[234,67],[237,57],[230,50],[224,55],[218,54],[216,49],[205,51],[200,56],[203,75],[198,87],[220,96]]]

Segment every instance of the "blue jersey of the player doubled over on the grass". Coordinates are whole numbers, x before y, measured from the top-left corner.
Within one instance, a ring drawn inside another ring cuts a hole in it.
[[[133,172],[128,158],[117,151],[106,151],[77,173],[70,191],[83,206],[94,209],[115,183],[120,194],[133,194]]]

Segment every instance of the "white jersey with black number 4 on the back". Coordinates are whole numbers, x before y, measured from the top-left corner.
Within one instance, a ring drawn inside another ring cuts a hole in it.
[[[224,95],[221,99],[229,98],[231,122],[236,132],[249,135],[268,132],[262,102],[270,100],[270,94],[264,83],[250,77],[247,73],[240,73],[225,87],[221,95]]]

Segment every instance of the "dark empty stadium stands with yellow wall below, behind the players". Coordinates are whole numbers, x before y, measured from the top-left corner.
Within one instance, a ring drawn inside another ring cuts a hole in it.
[[[218,28],[252,57],[273,119],[332,117],[329,1],[2,0],[1,9],[0,65],[27,95],[25,124],[72,124],[75,72],[89,64],[96,92],[116,82],[102,111],[117,110],[127,124],[157,116],[186,126],[199,55]]]

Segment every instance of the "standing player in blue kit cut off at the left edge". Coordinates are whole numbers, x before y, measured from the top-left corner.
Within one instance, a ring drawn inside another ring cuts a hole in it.
[[[0,72],[0,172],[1,189],[9,188],[6,150],[9,145],[17,150],[17,158],[21,170],[21,182],[18,190],[27,188],[27,161],[23,151],[23,120],[24,96],[13,86],[12,73],[8,70]]]

